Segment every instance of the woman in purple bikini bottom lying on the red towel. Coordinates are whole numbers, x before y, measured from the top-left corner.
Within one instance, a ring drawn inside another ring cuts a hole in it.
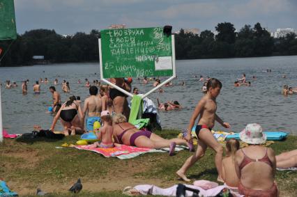
[[[117,143],[133,145],[140,148],[170,148],[169,155],[174,154],[176,145],[187,145],[184,139],[163,139],[162,137],[148,131],[139,131],[134,125],[127,123],[123,114],[117,113],[113,116],[114,139]],[[193,145],[188,145],[192,150]]]

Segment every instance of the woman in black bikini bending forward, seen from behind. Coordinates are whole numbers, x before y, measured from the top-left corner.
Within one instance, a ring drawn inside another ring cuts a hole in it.
[[[62,107],[59,109],[58,113],[56,113],[56,116],[54,116],[50,130],[54,131],[56,122],[61,118],[63,133],[66,136],[69,135],[69,132],[71,135],[82,134],[84,133],[84,129],[79,116],[83,117],[82,109],[80,104],[76,101],[75,96],[71,96],[67,102],[62,104]]]

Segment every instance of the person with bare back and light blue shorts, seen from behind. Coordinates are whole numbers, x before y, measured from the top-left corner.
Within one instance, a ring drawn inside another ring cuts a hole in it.
[[[93,131],[93,124],[98,121],[100,122],[100,113],[102,111],[102,100],[98,94],[98,88],[96,86],[91,86],[89,88],[90,96],[84,100],[84,110],[83,110],[83,122],[86,117],[86,111],[88,111],[89,118],[86,119],[86,130],[88,132]]]

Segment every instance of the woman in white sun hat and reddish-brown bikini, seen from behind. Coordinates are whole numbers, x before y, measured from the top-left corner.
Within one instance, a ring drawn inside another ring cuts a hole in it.
[[[235,170],[239,178],[239,194],[244,196],[278,196],[274,182],[276,159],[271,148],[262,146],[266,136],[260,125],[248,124],[240,134],[248,147],[236,152]]]

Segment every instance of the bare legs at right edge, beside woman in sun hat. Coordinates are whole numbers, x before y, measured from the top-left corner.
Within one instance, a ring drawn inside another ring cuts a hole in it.
[[[297,149],[275,156],[277,168],[297,167]]]

